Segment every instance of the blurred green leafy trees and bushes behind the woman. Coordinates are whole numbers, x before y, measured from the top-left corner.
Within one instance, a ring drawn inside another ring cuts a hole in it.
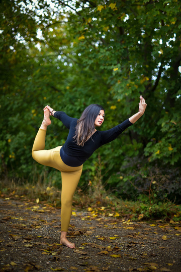
[[[2,192],[10,183],[49,185],[49,196],[60,188],[60,173],[31,156],[45,105],[79,118],[88,104],[101,104],[107,130],[135,114],[142,95],[145,115],[85,162],[78,190],[99,191],[101,204],[103,192],[149,202],[149,214],[153,204],[180,204],[180,2],[2,0],[0,6]],[[51,120],[46,149],[63,145],[68,134]]]

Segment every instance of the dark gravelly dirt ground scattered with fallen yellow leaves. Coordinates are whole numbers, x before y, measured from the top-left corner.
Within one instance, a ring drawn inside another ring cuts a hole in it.
[[[73,210],[59,244],[60,209],[0,199],[0,271],[181,271],[181,225],[132,222]]]

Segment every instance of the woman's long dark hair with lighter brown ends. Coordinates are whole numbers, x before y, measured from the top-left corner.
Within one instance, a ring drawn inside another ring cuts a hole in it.
[[[75,140],[77,145],[83,146],[84,143],[90,139],[95,132],[95,120],[100,111],[104,110],[101,105],[91,104],[85,108],[80,118],[77,120],[75,127]]]

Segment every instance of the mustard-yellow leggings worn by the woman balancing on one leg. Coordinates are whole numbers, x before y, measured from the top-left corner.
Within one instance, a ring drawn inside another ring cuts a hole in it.
[[[60,157],[61,146],[44,150],[45,137],[46,130],[39,129],[33,144],[32,156],[39,164],[61,171],[61,231],[67,232],[72,213],[73,194],[82,173],[82,166],[70,167],[65,165]]]

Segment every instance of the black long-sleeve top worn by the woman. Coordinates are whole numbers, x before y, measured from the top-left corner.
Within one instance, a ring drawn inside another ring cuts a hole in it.
[[[115,140],[126,128],[133,125],[129,119],[127,119],[112,129],[106,131],[97,130],[83,146],[79,146],[73,139],[78,119],[71,118],[64,112],[55,112],[54,117],[59,119],[63,125],[69,129],[68,137],[60,149],[60,156],[66,165],[72,167],[82,165],[96,149],[103,144]]]

